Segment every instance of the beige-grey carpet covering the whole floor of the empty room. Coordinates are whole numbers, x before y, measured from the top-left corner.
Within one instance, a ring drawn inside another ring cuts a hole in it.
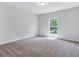
[[[79,43],[47,37],[34,37],[1,45],[0,56],[76,57],[79,56]]]

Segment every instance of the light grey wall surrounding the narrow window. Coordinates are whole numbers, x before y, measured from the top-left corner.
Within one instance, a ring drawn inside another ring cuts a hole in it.
[[[79,8],[38,15],[38,35],[48,36],[49,18],[58,17],[58,34],[62,39],[79,41]]]

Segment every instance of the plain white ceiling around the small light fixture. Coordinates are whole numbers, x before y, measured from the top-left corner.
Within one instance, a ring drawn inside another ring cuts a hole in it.
[[[35,14],[43,14],[79,6],[79,2],[48,2],[44,6],[38,5],[37,2],[6,2],[6,4]]]

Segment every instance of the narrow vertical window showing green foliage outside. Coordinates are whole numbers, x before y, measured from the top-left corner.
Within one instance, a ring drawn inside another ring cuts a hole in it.
[[[49,24],[49,33],[58,34],[58,18],[50,18]]]

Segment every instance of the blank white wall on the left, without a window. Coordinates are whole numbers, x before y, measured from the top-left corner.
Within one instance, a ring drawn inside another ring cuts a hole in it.
[[[0,3],[0,44],[36,34],[35,14]]]

